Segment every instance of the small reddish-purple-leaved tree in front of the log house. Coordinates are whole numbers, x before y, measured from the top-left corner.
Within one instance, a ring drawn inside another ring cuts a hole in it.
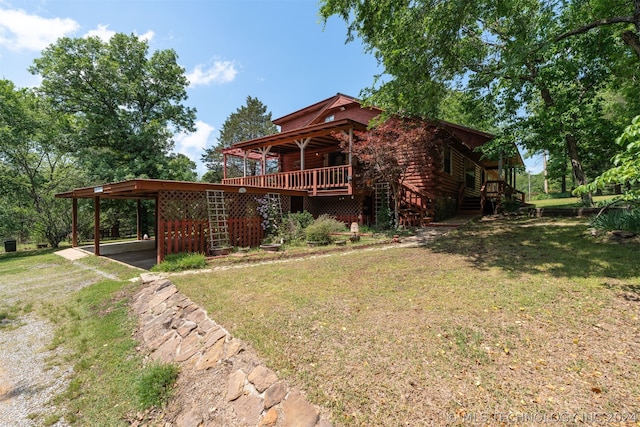
[[[392,117],[367,132],[354,132],[352,155],[362,164],[362,179],[389,184],[394,202],[395,224],[399,224],[402,187],[408,176],[427,169],[439,169],[434,151],[440,145],[436,127],[425,126],[419,119]],[[348,136],[335,134],[343,149],[348,149]]]

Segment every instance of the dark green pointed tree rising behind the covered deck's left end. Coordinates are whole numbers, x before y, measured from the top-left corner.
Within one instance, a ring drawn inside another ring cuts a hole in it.
[[[222,124],[218,143],[214,147],[205,149],[202,161],[208,169],[203,179],[209,182],[222,181],[223,154],[222,150],[237,142],[273,135],[278,128],[271,121],[271,113],[258,99],[247,96],[247,104],[238,108],[235,113],[227,117]],[[256,175],[258,163],[250,161],[249,175]],[[238,177],[244,175],[244,160],[236,157],[227,158],[227,176]]]

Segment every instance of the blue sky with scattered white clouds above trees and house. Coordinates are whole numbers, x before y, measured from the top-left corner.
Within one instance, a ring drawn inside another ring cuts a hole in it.
[[[135,33],[151,50],[173,49],[191,82],[197,131],[176,152],[200,156],[227,117],[257,97],[284,116],[338,92],[358,96],[380,73],[346,25],[323,26],[316,0],[0,0],[0,78],[37,86],[27,68],[59,37]]]

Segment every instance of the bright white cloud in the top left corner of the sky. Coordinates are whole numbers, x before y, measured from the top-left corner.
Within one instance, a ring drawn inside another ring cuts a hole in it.
[[[0,9],[0,46],[15,51],[41,51],[80,28],[73,19],[43,18],[21,9]]]

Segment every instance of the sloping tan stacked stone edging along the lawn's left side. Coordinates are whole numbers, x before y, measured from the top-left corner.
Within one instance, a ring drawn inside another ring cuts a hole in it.
[[[165,426],[331,426],[300,391],[280,381],[246,343],[168,279],[143,274],[142,280],[133,302],[142,348],[155,361],[179,364],[181,377],[190,379],[185,387],[195,393]]]

